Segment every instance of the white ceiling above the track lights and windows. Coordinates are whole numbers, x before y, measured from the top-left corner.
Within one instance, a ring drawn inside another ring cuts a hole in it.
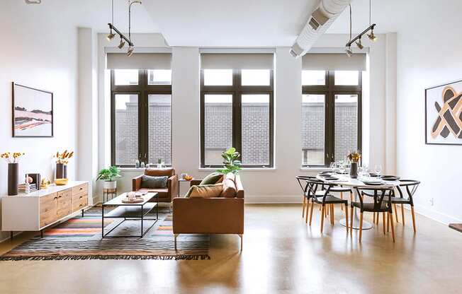
[[[6,0],[18,4],[18,0]],[[77,26],[108,31],[111,0],[43,0],[21,7],[53,13]],[[133,33],[162,33],[171,46],[275,47],[291,46],[320,0],[142,0],[132,6]],[[396,31],[400,0],[373,0],[376,33]],[[114,23],[128,28],[128,1],[114,0]],[[353,31],[368,25],[368,0],[354,0]],[[327,33],[348,33],[348,9]],[[391,17],[393,16],[393,17]]]

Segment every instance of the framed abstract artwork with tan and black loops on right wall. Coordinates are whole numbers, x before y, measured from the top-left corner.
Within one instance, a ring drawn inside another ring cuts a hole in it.
[[[462,145],[462,81],[425,89],[425,143]]]

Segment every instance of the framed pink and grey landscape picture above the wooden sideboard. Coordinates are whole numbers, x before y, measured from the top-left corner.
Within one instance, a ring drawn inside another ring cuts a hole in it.
[[[53,93],[13,83],[13,137],[53,136]]]

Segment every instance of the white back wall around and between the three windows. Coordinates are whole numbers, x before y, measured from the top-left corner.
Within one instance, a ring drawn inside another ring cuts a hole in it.
[[[100,34],[99,47],[99,77],[104,78],[103,52],[107,42]],[[153,35],[155,37],[155,34]],[[365,116],[363,124],[371,124],[368,128],[370,135],[365,136],[368,141],[363,143],[371,149],[367,161],[373,165],[380,163],[385,167],[385,44],[386,36],[379,35],[379,41],[370,49],[369,73],[374,81],[370,85],[373,93],[369,98],[364,93],[363,100],[366,108],[364,112],[371,112]],[[347,35],[325,35],[317,43],[317,47],[343,47],[348,39]],[[136,42],[137,47],[144,47],[146,41]],[[365,45],[367,42],[365,42]],[[200,155],[200,100],[199,100],[199,50],[197,47],[172,48],[172,100],[173,100],[173,165],[177,173],[188,172],[196,178],[207,175],[210,170],[199,169]],[[288,53],[288,47],[276,48],[275,68],[275,116],[274,116],[274,151],[276,154],[275,168],[242,170],[242,180],[246,189],[248,202],[295,202],[300,201],[299,187],[295,182],[295,175],[312,174],[315,170],[300,170],[300,121],[301,121],[301,59],[293,59]],[[99,81],[100,86],[104,83]],[[367,88],[367,87],[366,87]],[[100,161],[102,166],[110,165],[110,141],[107,131],[110,120],[109,89],[100,88],[100,131],[106,131],[100,138]],[[369,101],[370,99],[370,101]],[[102,104],[101,104],[102,103]],[[103,127],[103,125],[107,127]],[[104,158],[104,159],[103,159]],[[124,170],[123,179],[118,181],[118,191],[131,189],[131,178],[139,175],[140,170]],[[186,185],[182,187],[182,192]]]

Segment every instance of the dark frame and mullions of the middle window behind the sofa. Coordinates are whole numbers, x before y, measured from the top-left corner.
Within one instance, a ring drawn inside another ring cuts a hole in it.
[[[242,69],[232,70],[232,86],[205,86],[201,69],[201,168],[222,167],[205,165],[205,95],[232,95],[232,146],[242,153],[242,95],[269,95],[269,165],[242,165],[249,168],[274,167],[274,76],[269,70],[269,86],[242,86]]]

